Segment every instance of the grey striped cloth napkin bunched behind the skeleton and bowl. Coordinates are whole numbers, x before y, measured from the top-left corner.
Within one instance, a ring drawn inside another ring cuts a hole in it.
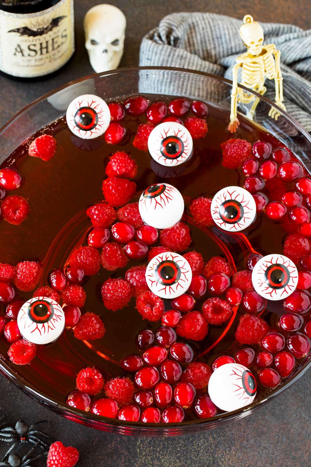
[[[189,68],[232,79],[235,58],[246,50],[239,35],[242,22],[211,13],[169,14],[143,38],[139,65]],[[311,132],[311,29],[261,25],[264,43],[276,44],[281,51],[287,111]],[[265,96],[274,101],[274,81],[265,83]]]

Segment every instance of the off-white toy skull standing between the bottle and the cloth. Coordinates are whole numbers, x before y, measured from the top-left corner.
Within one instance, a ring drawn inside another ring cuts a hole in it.
[[[96,5],[84,18],[85,47],[97,73],[114,70],[123,55],[126,19],[113,5]]]

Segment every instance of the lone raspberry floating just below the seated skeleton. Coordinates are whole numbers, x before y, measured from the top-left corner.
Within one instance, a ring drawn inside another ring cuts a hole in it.
[[[230,138],[221,143],[222,165],[228,169],[238,169],[251,157],[252,145],[239,138]]]

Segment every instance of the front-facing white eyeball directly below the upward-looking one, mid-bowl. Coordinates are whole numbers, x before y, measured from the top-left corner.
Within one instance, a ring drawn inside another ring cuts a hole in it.
[[[183,256],[166,252],[152,258],[145,277],[155,295],[171,299],[179,297],[189,288],[192,270]]]

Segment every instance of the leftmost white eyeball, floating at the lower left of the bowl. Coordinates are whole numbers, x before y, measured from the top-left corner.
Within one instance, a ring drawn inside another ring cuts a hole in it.
[[[34,344],[49,344],[62,334],[65,315],[61,305],[48,297],[33,297],[23,304],[17,325],[24,339]]]

